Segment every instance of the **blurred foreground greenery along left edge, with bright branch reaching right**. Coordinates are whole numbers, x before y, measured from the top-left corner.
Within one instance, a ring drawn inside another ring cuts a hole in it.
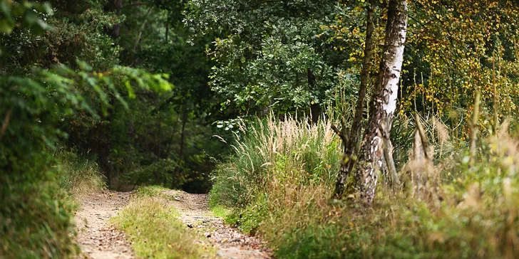
[[[6,3],[1,1],[2,21],[9,18],[4,8]],[[38,8],[27,2],[21,5],[26,9]],[[8,7],[14,18],[22,17],[22,14],[14,14],[19,4]],[[21,35],[16,33],[27,33],[24,31],[27,29],[32,35],[31,24],[22,22],[16,31],[2,37],[2,43],[4,39],[16,41]],[[13,53],[9,48],[7,51]],[[77,64],[75,70],[66,65],[53,65],[50,69],[33,68],[31,73],[12,73],[19,76],[4,75],[11,68],[2,68],[1,257],[65,258],[78,250],[73,245],[71,213],[74,207],[66,191],[76,191],[78,184],[81,185],[76,181],[83,177],[79,174],[90,174],[88,184],[93,186],[100,186],[101,181],[94,176],[96,166],[81,159],[60,157],[62,164],[56,165],[58,159],[53,157],[53,150],[68,135],[65,127],[60,127],[63,122],[76,120],[76,116],[99,120],[99,114],[106,115],[113,107],[113,100],[126,105],[121,95],[131,96],[134,88],[157,92],[172,88],[163,75],[150,75],[144,70],[115,66],[99,73],[83,61],[74,64]],[[60,188],[60,182],[61,187],[71,190]]]

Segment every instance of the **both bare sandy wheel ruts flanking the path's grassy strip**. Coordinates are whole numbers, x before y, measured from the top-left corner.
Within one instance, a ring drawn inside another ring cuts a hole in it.
[[[219,258],[272,258],[272,252],[259,239],[244,235],[225,226],[222,218],[212,216],[207,206],[207,194],[187,194],[184,191],[163,191],[168,203],[178,208],[180,220],[195,231],[203,246],[215,248]],[[125,233],[111,226],[109,219],[128,203],[130,192],[105,191],[85,197],[76,213],[77,242],[80,258],[135,258]]]

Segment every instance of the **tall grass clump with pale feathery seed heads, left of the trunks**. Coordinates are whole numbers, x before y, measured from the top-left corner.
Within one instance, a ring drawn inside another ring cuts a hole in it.
[[[267,190],[332,184],[341,154],[329,123],[270,117],[242,128],[234,154],[215,170],[211,202],[244,207]]]

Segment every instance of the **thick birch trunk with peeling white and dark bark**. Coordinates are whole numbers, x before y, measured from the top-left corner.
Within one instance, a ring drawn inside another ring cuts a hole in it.
[[[371,206],[384,159],[384,139],[389,139],[404,60],[407,30],[406,0],[390,0],[379,80],[371,103],[369,122],[362,141],[358,170],[361,200]]]

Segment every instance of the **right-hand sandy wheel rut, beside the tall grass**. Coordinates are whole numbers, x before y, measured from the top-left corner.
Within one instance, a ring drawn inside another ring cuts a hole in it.
[[[216,248],[220,258],[262,259],[272,258],[272,252],[258,238],[247,236],[226,226],[223,219],[212,216],[207,204],[207,194],[188,194],[185,191],[164,190],[170,196],[170,205],[177,208],[180,220],[197,231],[195,242]]]

